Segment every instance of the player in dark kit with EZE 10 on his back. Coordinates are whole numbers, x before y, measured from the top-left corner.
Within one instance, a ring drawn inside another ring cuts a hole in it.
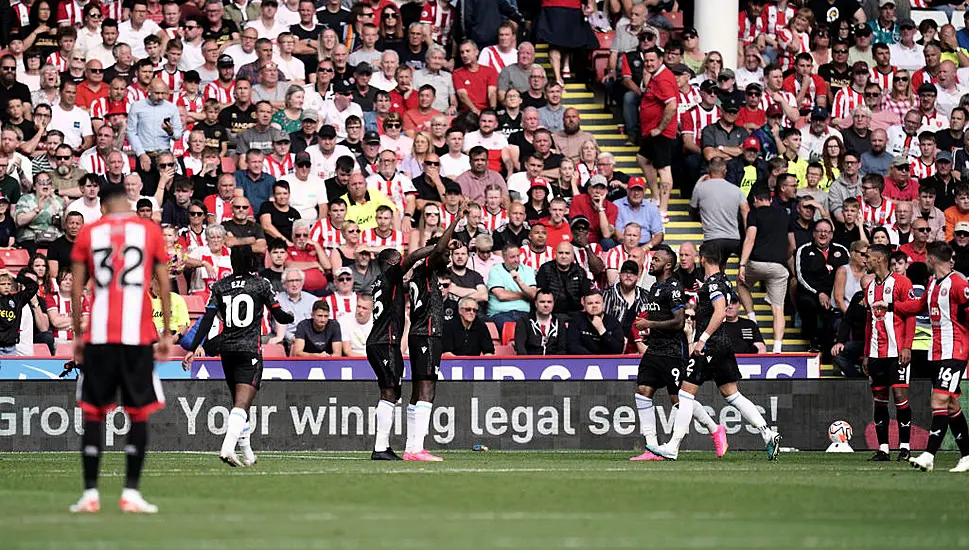
[[[225,383],[232,393],[232,410],[219,458],[229,466],[252,466],[256,455],[249,441],[248,411],[262,381],[262,315],[265,308],[280,324],[292,323],[294,318],[276,301],[272,283],[258,275],[262,256],[249,246],[233,246],[229,257],[232,275],[212,285],[209,303],[195,332],[182,368],[189,370],[195,360],[195,350],[209,334],[215,316],[222,321],[222,332],[210,340],[205,351],[222,356]],[[236,445],[242,450],[242,460],[236,455]]]

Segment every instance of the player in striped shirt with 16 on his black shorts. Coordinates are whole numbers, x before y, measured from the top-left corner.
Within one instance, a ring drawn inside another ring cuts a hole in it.
[[[923,472],[935,467],[935,453],[942,445],[947,428],[952,429],[962,458],[950,472],[969,472],[969,426],[959,406],[959,382],[969,359],[969,327],[965,309],[969,306],[969,283],[952,269],[952,248],[944,242],[928,246],[926,258],[935,277],[918,300],[898,304],[896,311],[915,315],[928,306],[932,334],[929,340],[929,367],[932,376],[932,427],[925,452],[909,458],[912,467]],[[911,305],[910,305],[911,304]]]

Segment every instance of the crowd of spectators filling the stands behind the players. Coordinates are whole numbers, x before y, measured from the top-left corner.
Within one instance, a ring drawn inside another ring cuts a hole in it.
[[[969,31],[916,25],[909,0],[742,2],[738,67],[670,24],[675,2],[459,4],[15,1],[0,245],[27,251],[40,286],[21,340],[73,337],[70,247],[113,185],[165,229],[170,330],[248,245],[297,319],[267,321],[264,339],[293,356],[363,355],[375,253],[415,250],[456,216],[454,355],[494,353],[489,324],[519,354],[642,351],[634,320],[674,187],[703,245],[739,260],[738,351],[766,351],[763,289],[775,353],[792,313],[812,350],[853,353],[834,328],[867,243],[912,269],[946,240],[969,265]],[[643,176],[562,103],[605,31],[602,80]],[[696,246],[678,253],[695,292]]]

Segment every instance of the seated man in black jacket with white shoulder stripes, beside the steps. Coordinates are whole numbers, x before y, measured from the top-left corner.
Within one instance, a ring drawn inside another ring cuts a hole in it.
[[[831,349],[834,274],[839,267],[848,263],[848,250],[832,243],[833,237],[834,226],[831,222],[820,220],[814,224],[811,242],[802,245],[794,253],[794,272],[798,282],[797,310],[801,314],[801,331],[810,342],[812,353]]]

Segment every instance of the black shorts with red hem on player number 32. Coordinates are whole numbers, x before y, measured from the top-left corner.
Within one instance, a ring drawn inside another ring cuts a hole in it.
[[[148,415],[165,406],[152,346],[84,346],[83,371],[77,378],[81,410],[103,416],[117,405],[119,390],[128,414]]]

